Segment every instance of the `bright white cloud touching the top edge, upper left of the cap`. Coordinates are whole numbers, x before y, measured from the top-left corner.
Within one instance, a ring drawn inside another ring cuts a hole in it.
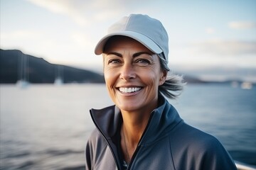
[[[119,0],[27,0],[54,13],[70,16],[80,26],[89,26],[93,21],[105,21],[131,11],[137,1]],[[144,0],[146,1],[146,0]],[[140,1],[143,3],[143,1]],[[139,5],[137,5],[139,6]],[[129,8],[131,7],[131,8]]]

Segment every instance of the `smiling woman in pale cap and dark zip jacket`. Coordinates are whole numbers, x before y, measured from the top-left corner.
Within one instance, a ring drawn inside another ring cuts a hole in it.
[[[90,111],[97,130],[85,148],[86,169],[236,169],[215,137],[193,128],[164,98],[181,77],[167,77],[168,35],[141,14],[122,18],[98,42],[115,106]]]

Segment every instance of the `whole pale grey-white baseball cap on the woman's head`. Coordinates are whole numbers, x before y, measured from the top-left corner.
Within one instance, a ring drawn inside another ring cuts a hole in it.
[[[168,63],[169,38],[160,21],[142,14],[124,16],[117,23],[110,26],[107,35],[97,43],[95,55],[102,54],[107,40],[114,35],[123,35],[137,40],[152,52],[162,53],[165,62]]]

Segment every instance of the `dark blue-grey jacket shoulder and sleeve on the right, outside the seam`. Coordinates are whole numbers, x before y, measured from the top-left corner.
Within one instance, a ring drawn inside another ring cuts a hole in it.
[[[171,152],[178,169],[236,169],[230,154],[213,135],[183,123],[171,138]]]

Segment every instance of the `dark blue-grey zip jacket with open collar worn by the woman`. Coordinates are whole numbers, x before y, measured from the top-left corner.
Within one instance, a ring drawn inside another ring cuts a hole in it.
[[[152,111],[128,169],[236,169],[215,137],[184,123],[163,96],[159,100],[159,107]],[[90,113],[97,130],[92,132],[85,147],[85,169],[121,170],[117,151],[117,134],[122,124],[119,109],[110,106],[92,109]]]

